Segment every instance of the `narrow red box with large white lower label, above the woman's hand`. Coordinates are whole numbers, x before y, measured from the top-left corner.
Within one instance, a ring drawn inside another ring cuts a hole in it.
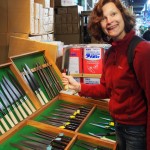
[[[82,73],[82,56],[83,56],[83,47],[73,46],[70,48],[70,56],[69,56],[70,74]]]

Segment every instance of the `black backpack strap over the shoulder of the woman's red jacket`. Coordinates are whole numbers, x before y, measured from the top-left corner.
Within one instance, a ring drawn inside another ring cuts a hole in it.
[[[135,35],[132,38],[132,40],[130,41],[130,44],[128,46],[128,52],[127,52],[128,63],[133,72],[134,72],[134,67],[133,67],[134,49],[135,49],[136,45],[143,40],[144,39],[142,39],[141,37]]]

